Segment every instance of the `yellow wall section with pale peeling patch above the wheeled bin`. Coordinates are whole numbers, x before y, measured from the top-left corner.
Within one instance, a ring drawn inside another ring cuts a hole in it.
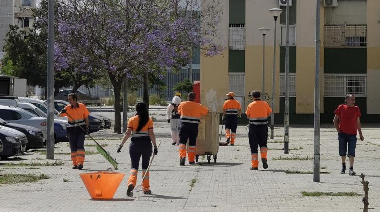
[[[201,57],[201,104],[222,112],[228,93],[228,49],[221,55]]]

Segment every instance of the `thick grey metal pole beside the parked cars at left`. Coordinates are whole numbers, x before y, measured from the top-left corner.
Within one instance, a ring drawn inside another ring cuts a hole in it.
[[[54,0],[48,2],[47,22],[47,142],[46,159],[54,159]]]

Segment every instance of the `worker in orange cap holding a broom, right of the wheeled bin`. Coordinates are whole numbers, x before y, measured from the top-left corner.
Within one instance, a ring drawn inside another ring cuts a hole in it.
[[[223,121],[225,121],[226,142],[231,141],[231,146],[235,143],[237,119],[241,118],[240,102],[234,99],[235,94],[230,92],[227,95],[227,100],[223,104]],[[230,132],[231,130],[231,132]]]

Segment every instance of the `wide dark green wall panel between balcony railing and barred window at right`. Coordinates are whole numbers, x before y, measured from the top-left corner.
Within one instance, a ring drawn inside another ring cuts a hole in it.
[[[366,74],[366,48],[324,48],[326,74]]]

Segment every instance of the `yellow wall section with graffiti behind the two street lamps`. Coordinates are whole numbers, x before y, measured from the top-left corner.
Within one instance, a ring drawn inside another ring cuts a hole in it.
[[[276,73],[275,73],[275,101],[274,112],[279,113],[279,92],[280,92],[280,52],[279,46],[276,49]],[[264,92],[272,97],[272,70],[273,70],[273,46],[265,47],[265,88]],[[263,47],[262,46],[245,46],[245,96],[253,89],[259,91],[263,87]],[[249,99],[245,99],[245,105],[248,105]],[[271,105],[271,99],[266,100]]]

